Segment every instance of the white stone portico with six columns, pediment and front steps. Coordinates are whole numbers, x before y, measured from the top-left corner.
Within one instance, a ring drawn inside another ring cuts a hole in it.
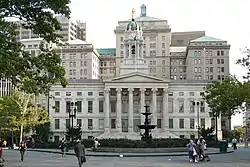
[[[103,138],[140,139],[145,105],[150,106],[153,137],[175,137],[168,131],[168,81],[134,72],[105,81]]]

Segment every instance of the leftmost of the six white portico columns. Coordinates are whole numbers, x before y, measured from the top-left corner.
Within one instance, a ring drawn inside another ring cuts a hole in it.
[[[104,110],[104,131],[105,133],[110,132],[110,116],[109,116],[109,108],[110,108],[110,100],[109,100],[109,91],[110,89],[105,89],[105,110]]]

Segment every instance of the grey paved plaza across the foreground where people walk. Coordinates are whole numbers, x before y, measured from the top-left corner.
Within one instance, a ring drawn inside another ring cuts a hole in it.
[[[75,156],[61,158],[59,154],[27,152],[20,162],[18,151],[5,150],[5,167],[77,167]],[[187,157],[87,157],[85,167],[249,167],[250,148],[239,148],[232,154],[212,155],[209,163],[189,163]]]

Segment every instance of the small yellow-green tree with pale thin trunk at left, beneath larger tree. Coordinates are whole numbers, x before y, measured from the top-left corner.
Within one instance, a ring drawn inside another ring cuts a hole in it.
[[[0,99],[0,120],[3,130],[19,130],[21,141],[24,128],[48,122],[48,113],[36,103],[34,94],[13,89],[10,96]]]

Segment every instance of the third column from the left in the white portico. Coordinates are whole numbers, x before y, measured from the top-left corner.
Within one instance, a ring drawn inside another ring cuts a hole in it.
[[[134,127],[134,109],[133,109],[133,88],[129,88],[129,109],[128,109],[128,132],[133,132]]]

